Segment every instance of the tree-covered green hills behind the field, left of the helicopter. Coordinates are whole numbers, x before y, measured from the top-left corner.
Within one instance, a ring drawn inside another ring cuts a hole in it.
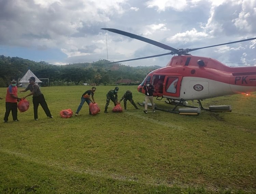
[[[114,84],[120,79],[130,79],[136,83],[143,81],[146,75],[160,66],[131,67],[120,63],[108,64],[108,60],[93,63],[74,63],[53,65],[47,62],[35,62],[19,57],[0,55],[0,87],[9,85],[11,79],[20,79],[30,69],[39,79],[49,78],[49,85],[77,85],[82,83]],[[47,86],[47,80],[42,86]]]

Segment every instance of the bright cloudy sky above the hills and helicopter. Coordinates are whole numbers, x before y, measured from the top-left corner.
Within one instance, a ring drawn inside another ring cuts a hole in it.
[[[256,37],[256,0],[0,0],[0,55],[64,65],[170,52],[104,27],[173,48],[222,44]],[[256,66],[255,47],[256,40],[190,54]],[[165,66],[171,57],[122,64]]]

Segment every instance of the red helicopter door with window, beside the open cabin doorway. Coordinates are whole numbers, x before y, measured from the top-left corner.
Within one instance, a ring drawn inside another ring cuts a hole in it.
[[[180,96],[181,80],[183,76],[166,76],[163,95]]]

